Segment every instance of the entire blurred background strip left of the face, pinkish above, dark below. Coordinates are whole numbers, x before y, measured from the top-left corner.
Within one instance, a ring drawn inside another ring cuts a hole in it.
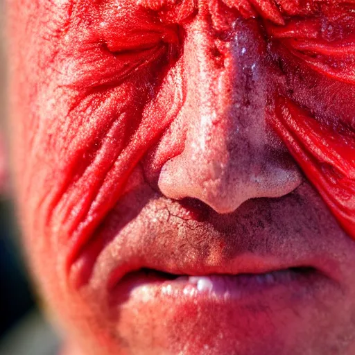
[[[0,355],[56,355],[59,341],[35,304],[11,197],[6,147],[4,10],[0,0]]]

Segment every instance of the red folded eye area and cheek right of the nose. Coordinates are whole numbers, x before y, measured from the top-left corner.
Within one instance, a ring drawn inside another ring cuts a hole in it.
[[[267,26],[285,78],[270,123],[355,239],[355,19],[341,6],[323,10]]]

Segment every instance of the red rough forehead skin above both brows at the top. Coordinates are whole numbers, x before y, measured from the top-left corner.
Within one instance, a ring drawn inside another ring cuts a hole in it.
[[[338,16],[340,12],[355,11],[355,0],[8,0],[8,12],[12,26],[37,27],[58,31],[70,23],[78,25],[82,21],[124,20],[135,17],[135,22],[146,21],[144,10],[159,19],[181,22],[197,13],[218,12],[228,17],[263,17],[276,24],[284,24],[284,19],[292,16],[310,16],[327,12]],[[153,13],[154,12],[154,13]],[[18,21],[23,17],[24,21]],[[16,21],[17,19],[17,21]],[[225,19],[226,20],[226,19]],[[30,25],[30,26],[28,26]]]

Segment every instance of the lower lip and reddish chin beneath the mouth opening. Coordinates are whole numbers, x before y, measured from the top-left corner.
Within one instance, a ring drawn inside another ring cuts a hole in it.
[[[263,340],[282,341],[277,328],[282,334],[288,324],[291,334],[300,320],[298,309],[314,307],[318,292],[329,291],[329,281],[314,270],[177,279],[141,271],[121,279],[110,302],[118,306],[120,336],[132,341],[130,347],[143,346],[146,354],[153,338],[151,354],[234,354],[236,347],[244,354],[243,346],[245,354],[257,346],[252,354],[266,354]],[[135,354],[144,351],[137,347]]]

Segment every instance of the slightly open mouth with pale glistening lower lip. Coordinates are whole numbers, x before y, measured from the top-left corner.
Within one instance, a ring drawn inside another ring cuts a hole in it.
[[[249,272],[236,275],[176,275],[169,272],[141,268],[128,272],[116,285],[126,296],[142,291],[175,295],[178,297],[212,297],[214,300],[251,300],[260,293],[275,291],[275,288],[307,288],[324,279],[325,275],[313,266],[296,266],[269,272]]]

